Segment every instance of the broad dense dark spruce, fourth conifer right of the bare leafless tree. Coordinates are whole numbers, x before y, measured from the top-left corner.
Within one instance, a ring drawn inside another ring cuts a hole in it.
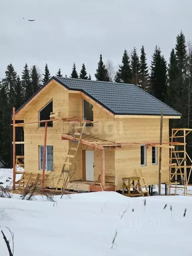
[[[167,65],[160,48],[155,47],[151,61],[151,94],[165,102],[167,96]]]

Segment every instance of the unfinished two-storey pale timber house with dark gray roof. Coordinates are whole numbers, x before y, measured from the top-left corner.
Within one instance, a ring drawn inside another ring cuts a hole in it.
[[[116,191],[122,178],[141,171],[146,185],[157,184],[161,147],[164,183],[170,169],[169,119],[180,117],[135,85],[53,76],[13,113],[13,129],[24,127],[24,156],[16,163],[24,158],[21,180],[29,184],[30,177],[43,179],[52,171],[43,187],[59,189],[63,174],[72,172],[67,188]]]

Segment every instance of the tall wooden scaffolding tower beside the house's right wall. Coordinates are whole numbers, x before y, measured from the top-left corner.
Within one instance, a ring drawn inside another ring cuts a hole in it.
[[[192,160],[186,152],[186,136],[191,131],[192,129],[185,128],[172,129],[170,144],[175,148],[171,148],[170,151],[169,195],[171,195],[171,188],[175,188],[175,195],[177,195],[178,188],[183,188],[183,195],[187,196]],[[187,165],[187,162],[190,165]]]

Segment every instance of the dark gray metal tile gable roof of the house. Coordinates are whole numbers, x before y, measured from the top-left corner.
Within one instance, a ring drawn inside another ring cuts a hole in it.
[[[52,79],[69,90],[79,90],[98,102],[104,108],[116,115],[163,115],[180,116],[181,114],[149,93],[133,84],[120,84],[94,80],[83,80],[68,77],[53,76],[17,111],[22,109],[38,92]]]

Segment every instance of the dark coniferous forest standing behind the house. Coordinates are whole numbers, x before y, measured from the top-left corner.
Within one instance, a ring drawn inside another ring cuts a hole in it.
[[[102,54],[98,55],[98,66],[93,80],[135,84],[182,114],[181,119],[170,121],[170,129],[192,128],[192,44],[186,42],[182,32],[176,37],[175,48],[170,49],[168,61],[159,46],[155,47],[151,59],[147,60],[145,48],[141,45],[141,49],[134,47],[130,55],[124,50],[119,62],[121,64],[115,69],[112,61],[104,63]],[[150,66],[147,64],[149,62]],[[23,71],[19,75],[10,63],[4,78],[0,79],[0,158],[9,167],[12,165],[12,108],[17,110],[52,75],[62,77],[62,70],[58,68],[56,74],[50,74],[46,63],[44,73],[41,74],[35,65],[28,67],[24,63]],[[73,63],[69,77],[91,80],[84,63],[79,74]],[[19,128],[16,131],[16,140],[21,141],[23,128]],[[192,158],[192,133],[186,137],[186,142],[188,154]],[[17,155],[23,153],[22,146],[16,150]]]

